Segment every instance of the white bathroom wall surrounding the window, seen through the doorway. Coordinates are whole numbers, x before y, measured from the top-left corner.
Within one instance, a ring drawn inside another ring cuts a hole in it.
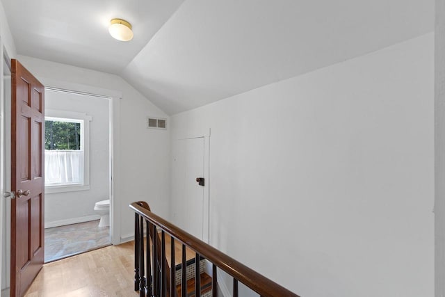
[[[95,202],[110,198],[110,99],[47,90],[44,103],[46,110],[74,111],[92,117],[89,124],[89,189],[45,193],[45,225],[54,227],[94,219],[97,216]]]

